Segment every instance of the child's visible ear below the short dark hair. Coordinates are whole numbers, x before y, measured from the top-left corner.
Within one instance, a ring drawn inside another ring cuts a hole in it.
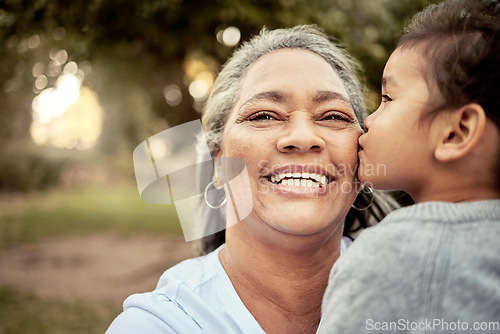
[[[448,116],[434,151],[434,157],[441,162],[466,156],[481,139],[486,125],[486,113],[477,103],[467,104]]]

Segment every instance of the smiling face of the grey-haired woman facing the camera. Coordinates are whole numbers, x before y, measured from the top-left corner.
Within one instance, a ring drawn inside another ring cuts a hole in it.
[[[356,197],[361,133],[342,81],[322,57],[302,49],[260,57],[243,78],[217,153],[246,164],[253,211],[244,221],[294,235],[334,232]]]

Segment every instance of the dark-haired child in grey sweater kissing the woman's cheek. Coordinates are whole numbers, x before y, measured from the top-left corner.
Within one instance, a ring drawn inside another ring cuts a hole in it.
[[[499,7],[431,5],[389,58],[359,178],[416,204],[335,263],[321,333],[500,332]]]

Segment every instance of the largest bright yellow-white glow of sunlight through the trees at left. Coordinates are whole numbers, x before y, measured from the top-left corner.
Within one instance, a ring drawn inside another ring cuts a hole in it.
[[[47,68],[36,63],[31,71],[36,78],[33,91],[39,93],[32,102],[31,138],[38,145],[92,148],[101,134],[103,121],[97,94],[82,87],[85,72],[74,61],[66,63],[69,56],[65,50],[52,49],[49,56],[52,60]],[[90,72],[90,62],[83,67]],[[57,76],[54,87],[47,87],[47,76]]]

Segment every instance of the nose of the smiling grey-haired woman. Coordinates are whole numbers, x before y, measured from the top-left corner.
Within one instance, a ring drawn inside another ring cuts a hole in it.
[[[306,153],[309,151],[320,152],[325,148],[325,141],[317,131],[312,119],[305,117],[288,120],[285,133],[278,138],[278,150],[287,153]]]

